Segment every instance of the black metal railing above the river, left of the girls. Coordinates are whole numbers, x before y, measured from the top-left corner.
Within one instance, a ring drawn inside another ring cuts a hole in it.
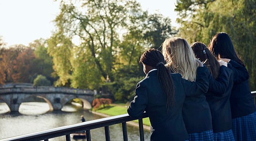
[[[143,118],[148,117],[146,113],[139,118],[131,118],[128,114],[117,115],[113,117],[105,117],[102,119],[90,120],[87,122],[82,122],[74,125],[68,125],[58,128],[53,128],[44,131],[38,131],[34,133],[14,136],[11,138],[0,139],[0,141],[48,141],[50,138],[55,138],[59,136],[66,136],[66,141],[70,141],[70,134],[78,133],[82,131],[86,131],[86,141],[91,141],[91,132],[90,130],[95,128],[104,127],[105,128],[105,138],[106,141],[110,141],[110,134],[109,134],[109,126],[122,123],[123,129],[123,140],[128,141],[127,136],[127,128],[126,122],[132,120],[139,120],[139,136],[140,140],[144,141],[144,130],[143,130]]]

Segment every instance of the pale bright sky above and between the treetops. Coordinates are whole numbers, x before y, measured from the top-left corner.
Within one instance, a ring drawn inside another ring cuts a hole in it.
[[[177,27],[176,0],[137,0],[143,10],[158,11]],[[28,45],[39,38],[49,38],[52,22],[60,12],[59,0],[0,0],[0,36],[7,45]]]

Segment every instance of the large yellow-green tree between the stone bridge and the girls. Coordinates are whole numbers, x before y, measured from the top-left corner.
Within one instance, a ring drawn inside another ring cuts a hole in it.
[[[60,77],[55,85],[112,94],[120,89],[119,96],[126,89],[130,95],[137,82],[127,88],[123,81],[144,76],[141,54],[175,33],[169,18],[149,15],[135,0],[63,0],[60,7],[54,21],[57,28],[47,40],[47,52]],[[73,44],[74,38],[80,42]]]

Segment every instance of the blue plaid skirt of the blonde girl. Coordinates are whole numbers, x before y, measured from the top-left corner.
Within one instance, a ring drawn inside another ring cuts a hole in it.
[[[202,131],[199,133],[188,134],[189,141],[214,141],[212,130]]]

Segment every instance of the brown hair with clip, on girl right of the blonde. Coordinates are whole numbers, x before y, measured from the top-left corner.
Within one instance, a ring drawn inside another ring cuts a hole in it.
[[[204,62],[214,79],[217,79],[219,76],[220,64],[211,51],[208,50],[207,46],[201,42],[195,42],[191,44],[191,48],[194,51],[196,58],[201,62]]]

